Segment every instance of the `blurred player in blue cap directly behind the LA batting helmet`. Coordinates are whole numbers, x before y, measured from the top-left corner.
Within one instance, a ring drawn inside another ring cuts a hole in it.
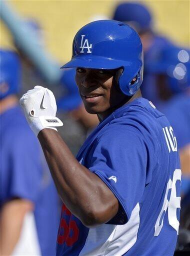
[[[144,52],[142,96],[151,100],[156,108],[159,109],[162,105],[162,100],[159,98],[155,84],[156,77],[146,66],[146,63],[155,61],[161,50],[170,45],[171,42],[153,31],[152,15],[146,6],[139,2],[122,2],[118,4],[112,18],[129,24],[140,35]]]

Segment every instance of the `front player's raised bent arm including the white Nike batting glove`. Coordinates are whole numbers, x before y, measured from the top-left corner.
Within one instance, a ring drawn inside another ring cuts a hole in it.
[[[118,201],[97,175],[76,160],[55,131],[62,122],[55,117],[53,93],[35,86],[21,97],[20,104],[31,129],[38,135],[62,201],[86,226],[107,222],[116,214]]]

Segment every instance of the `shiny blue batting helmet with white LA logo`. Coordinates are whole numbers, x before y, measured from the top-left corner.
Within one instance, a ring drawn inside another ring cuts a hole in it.
[[[142,43],[137,32],[116,20],[98,20],[79,29],[72,44],[72,57],[61,68],[122,68],[120,90],[133,95],[143,79]],[[132,79],[136,77],[134,83]]]

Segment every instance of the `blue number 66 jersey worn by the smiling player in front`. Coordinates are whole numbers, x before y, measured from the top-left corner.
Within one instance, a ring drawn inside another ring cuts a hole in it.
[[[166,117],[147,99],[135,99],[99,123],[77,159],[110,188],[119,210],[87,228],[63,205],[57,255],[173,255],[181,171]]]

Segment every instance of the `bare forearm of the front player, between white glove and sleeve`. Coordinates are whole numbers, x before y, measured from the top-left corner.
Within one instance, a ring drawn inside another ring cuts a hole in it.
[[[75,159],[58,132],[43,129],[38,139],[57,191],[75,216],[85,225],[93,226],[116,214],[117,199],[114,197],[113,203],[112,192],[98,176]]]

